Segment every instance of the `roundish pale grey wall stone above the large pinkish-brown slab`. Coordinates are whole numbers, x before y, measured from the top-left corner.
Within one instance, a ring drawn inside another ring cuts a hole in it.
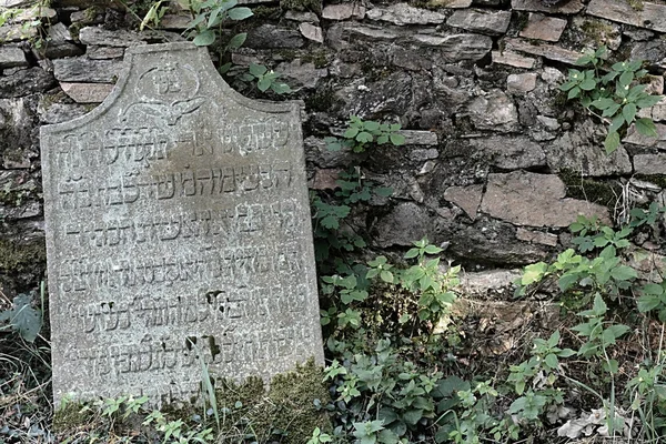
[[[509,132],[518,125],[516,105],[500,90],[474,99],[467,105],[467,115],[478,130]]]

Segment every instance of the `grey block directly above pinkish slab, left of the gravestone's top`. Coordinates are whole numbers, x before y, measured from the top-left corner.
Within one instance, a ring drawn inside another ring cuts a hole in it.
[[[61,82],[113,83],[121,62],[87,58],[53,60],[53,75]]]

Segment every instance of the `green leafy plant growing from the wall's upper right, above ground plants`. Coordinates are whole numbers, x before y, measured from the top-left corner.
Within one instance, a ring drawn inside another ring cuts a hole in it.
[[[632,123],[643,135],[658,135],[652,119],[636,119],[636,115],[640,109],[659,102],[662,95],[645,92],[647,84],[640,83],[647,75],[642,69],[643,61],[623,61],[605,69],[606,53],[606,47],[601,47],[579,58],[576,65],[583,70],[571,69],[567,81],[559,89],[568,92],[569,100],[578,99],[583,107],[608,124],[604,147],[612,153],[619,147],[620,133]]]

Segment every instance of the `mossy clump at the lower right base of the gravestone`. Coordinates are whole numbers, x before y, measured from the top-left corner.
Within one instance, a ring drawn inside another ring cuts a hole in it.
[[[216,389],[218,408],[224,417],[222,436],[253,435],[260,443],[279,438],[285,444],[303,444],[315,427],[330,431],[326,413],[314,405],[315,400],[329,402],[322,381],[323,371],[313,360],[276,375],[268,392],[256,377],[242,384],[222,381]]]

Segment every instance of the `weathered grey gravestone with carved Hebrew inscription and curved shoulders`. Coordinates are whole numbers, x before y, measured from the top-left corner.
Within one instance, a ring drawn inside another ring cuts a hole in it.
[[[135,47],[41,148],[56,400],[323,363],[297,103],[240,95],[191,43]]]

